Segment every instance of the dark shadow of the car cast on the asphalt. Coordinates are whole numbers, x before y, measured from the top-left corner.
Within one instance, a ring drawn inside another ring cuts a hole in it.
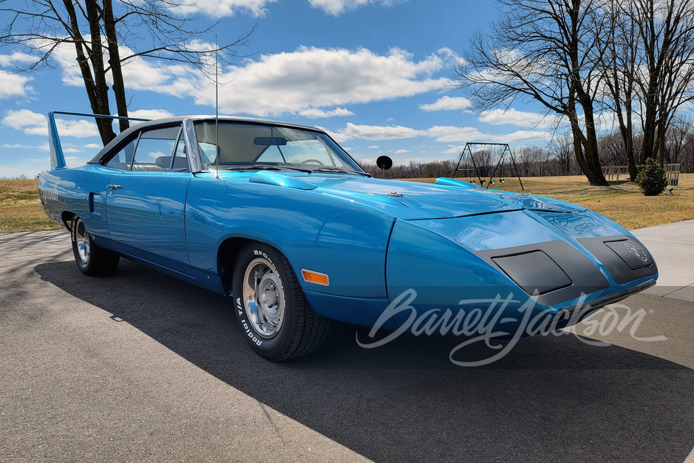
[[[365,349],[355,337],[368,329],[334,323],[319,351],[273,363],[246,345],[228,297],[124,260],[99,280],[74,262],[35,271],[375,461],[682,461],[694,446],[694,371],[625,348],[550,335],[463,368],[448,360],[461,339],[403,335]]]

